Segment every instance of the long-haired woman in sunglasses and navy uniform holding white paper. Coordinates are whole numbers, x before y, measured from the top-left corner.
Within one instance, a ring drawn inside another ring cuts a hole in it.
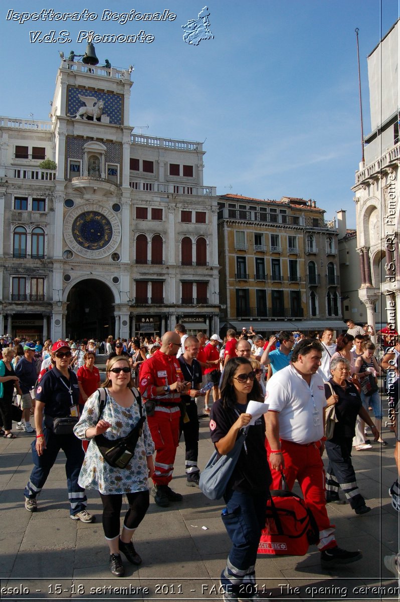
[[[232,358],[224,367],[221,399],[214,403],[210,415],[211,440],[221,456],[232,450],[240,430],[250,424],[251,414],[247,413],[250,400],[263,402],[253,368],[246,358]],[[226,601],[257,600],[254,564],[261,530],[265,527],[271,480],[262,415],[254,426],[248,426],[241,455],[224,495],[226,508],[221,517],[232,541],[221,573]]]

